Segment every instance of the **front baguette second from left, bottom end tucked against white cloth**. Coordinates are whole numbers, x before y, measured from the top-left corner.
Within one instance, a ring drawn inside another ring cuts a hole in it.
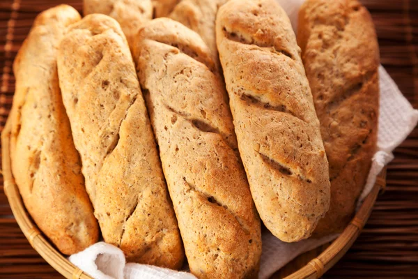
[[[107,15],[72,24],[58,69],[104,241],[128,261],[178,269],[183,247],[125,36]]]

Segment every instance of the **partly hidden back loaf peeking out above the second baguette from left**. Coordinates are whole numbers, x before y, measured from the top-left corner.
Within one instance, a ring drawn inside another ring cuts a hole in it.
[[[132,45],[132,39],[142,24],[153,19],[153,3],[151,0],[83,0],[83,13],[113,17],[121,24],[127,42]]]

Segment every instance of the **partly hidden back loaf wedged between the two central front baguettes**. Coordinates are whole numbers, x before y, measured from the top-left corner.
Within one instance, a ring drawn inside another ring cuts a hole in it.
[[[220,6],[228,0],[183,0],[169,15],[198,33],[208,45],[217,69],[222,72],[216,46],[215,20]]]

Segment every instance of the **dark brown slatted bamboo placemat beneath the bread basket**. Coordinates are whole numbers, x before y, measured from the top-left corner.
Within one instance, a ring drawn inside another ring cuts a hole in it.
[[[382,64],[418,108],[418,0],[362,2],[376,24]],[[17,50],[36,15],[59,3],[82,8],[82,0],[0,1],[0,132],[12,105]],[[362,235],[324,278],[418,278],[418,128],[395,156],[387,171],[386,193],[379,197]],[[0,177],[0,278],[61,277],[22,234]]]

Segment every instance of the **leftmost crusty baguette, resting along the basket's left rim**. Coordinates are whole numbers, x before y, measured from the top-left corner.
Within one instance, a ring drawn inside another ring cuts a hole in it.
[[[78,20],[77,10],[66,5],[36,17],[13,64],[10,112],[10,156],[20,195],[36,225],[66,255],[99,236],[56,72],[56,48],[65,28]]]

